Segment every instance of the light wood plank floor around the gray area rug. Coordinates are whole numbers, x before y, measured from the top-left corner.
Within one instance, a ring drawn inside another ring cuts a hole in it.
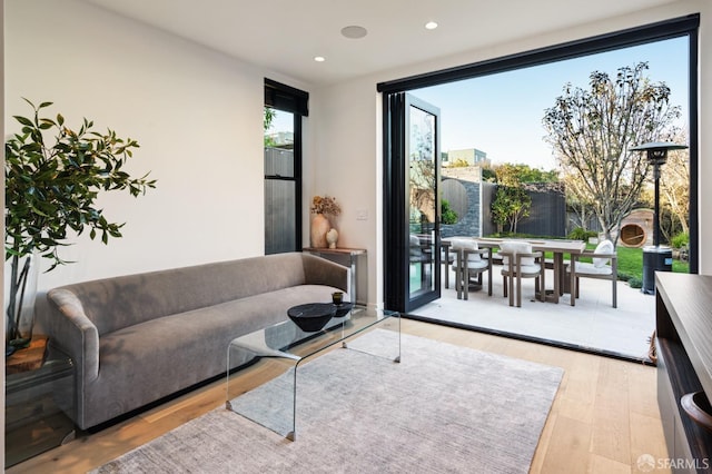
[[[640,455],[668,457],[654,367],[406,319],[403,332],[564,368],[532,473],[637,473]],[[260,368],[240,375],[246,385],[273,376]],[[8,472],[83,473],[224,404],[217,382]]]

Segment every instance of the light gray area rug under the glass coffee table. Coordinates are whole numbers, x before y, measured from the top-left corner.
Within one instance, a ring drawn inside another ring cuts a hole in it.
[[[399,364],[360,352],[397,337],[377,329],[299,368],[295,442],[217,408],[93,472],[528,472],[563,369],[406,334]],[[285,376],[235,403],[258,409]]]

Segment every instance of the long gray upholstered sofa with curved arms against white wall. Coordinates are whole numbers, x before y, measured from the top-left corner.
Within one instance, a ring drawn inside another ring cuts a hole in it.
[[[68,412],[86,429],[225,374],[233,338],[347,288],[346,267],[279,254],[55,288],[43,325],[75,362]]]

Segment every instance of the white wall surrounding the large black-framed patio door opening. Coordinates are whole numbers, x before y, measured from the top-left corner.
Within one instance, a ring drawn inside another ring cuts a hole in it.
[[[380,96],[376,83],[400,79],[418,73],[436,71],[455,66],[474,63],[485,59],[498,58],[516,52],[554,46],[566,41],[617,31],[626,28],[681,17],[689,13],[701,14],[700,32],[700,182],[712,180],[712,136],[704,130],[712,124],[712,96],[703,85],[712,82],[712,4],[704,0],[683,0],[665,8],[651,9],[632,16],[625,16],[565,31],[552,32],[525,41],[498,45],[486,50],[473,51],[456,57],[443,57],[438,61],[402,68],[364,77],[358,80],[339,83],[315,91],[312,108],[315,130],[314,140],[318,141],[316,156],[319,172],[316,182],[329,190],[344,203],[340,226],[342,235],[353,247],[368,249],[368,300],[382,303],[383,259],[375,250],[382,248],[382,205],[380,179],[383,150],[380,146]],[[706,57],[703,53],[706,51]],[[343,177],[343,178],[339,178]],[[344,182],[346,180],[347,182]],[[337,187],[338,186],[338,187]],[[702,186],[700,203],[700,273],[712,274],[712,219],[704,219],[704,209],[712,206],[712,188]],[[356,221],[354,213],[358,208],[368,210],[368,221]],[[386,236],[387,237],[387,236]],[[346,243],[346,240],[345,240]],[[339,241],[340,245],[340,241]]]

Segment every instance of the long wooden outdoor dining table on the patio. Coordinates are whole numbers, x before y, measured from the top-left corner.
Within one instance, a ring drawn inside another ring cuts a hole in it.
[[[582,254],[586,249],[586,243],[583,240],[558,240],[558,239],[504,239],[504,238],[493,238],[493,237],[448,237],[442,240],[443,249],[445,255],[447,251],[453,251],[451,248],[451,240],[455,238],[471,238],[477,243],[477,246],[481,248],[490,248],[490,278],[492,278],[492,255],[495,248],[498,248],[500,245],[504,240],[523,240],[532,245],[533,251],[551,251],[554,256],[553,258],[553,270],[554,270],[554,288],[551,292],[547,292],[545,288],[542,288],[544,294],[542,296],[546,296],[542,298],[546,302],[558,303],[560,296],[564,294],[564,279],[566,276],[566,266],[564,264],[564,254]],[[463,258],[462,255],[457,255],[457,257]],[[457,275],[461,266],[457,265],[455,267],[457,280],[461,280],[461,276]],[[461,298],[461,290],[458,288],[457,298]]]

